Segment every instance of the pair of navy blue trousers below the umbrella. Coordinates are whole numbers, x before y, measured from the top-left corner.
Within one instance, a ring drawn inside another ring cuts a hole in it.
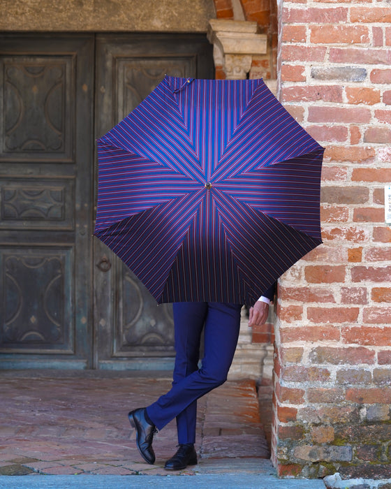
[[[241,305],[223,302],[175,302],[175,367],[172,388],[147,407],[158,430],[177,418],[179,444],[195,442],[197,399],[221,386],[235,353]],[[200,337],[204,358],[198,369]]]

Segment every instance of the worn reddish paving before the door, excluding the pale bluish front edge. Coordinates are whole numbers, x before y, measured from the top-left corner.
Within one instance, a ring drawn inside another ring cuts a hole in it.
[[[177,449],[175,421],[154,438],[156,464],[150,466],[142,463],[127,418],[130,409],[165,393],[169,379],[69,372],[64,377],[59,372],[54,377],[18,372],[0,378],[5,404],[0,427],[8,427],[0,429],[3,467],[15,465],[17,472],[22,466],[32,474],[171,475],[163,466]],[[175,474],[199,473],[210,458],[223,462],[269,456],[254,381],[228,381],[199,400],[195,448],[197,470]]]

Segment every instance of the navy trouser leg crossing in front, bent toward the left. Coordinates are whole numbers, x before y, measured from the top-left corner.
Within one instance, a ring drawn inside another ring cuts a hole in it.
[[[239,336],[240,309],[238,304],[208,302],[202,367],[147,407],[156,428],[161,430],[192,402],[226,381]]]

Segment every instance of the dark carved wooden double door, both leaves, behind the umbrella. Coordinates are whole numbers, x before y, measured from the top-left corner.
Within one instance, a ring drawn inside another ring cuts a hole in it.
[[[212,46],[4,34],[0,64],[0,370],[171,369],[170,306],[92,238],[94,139],[165,73],[213,78]]]

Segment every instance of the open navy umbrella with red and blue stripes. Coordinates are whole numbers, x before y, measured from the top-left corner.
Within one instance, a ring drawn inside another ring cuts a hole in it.
[[[94,235],[158,303],[252,303],[320,245],[324,148],[263,80],[164,80],[98,144]]]

